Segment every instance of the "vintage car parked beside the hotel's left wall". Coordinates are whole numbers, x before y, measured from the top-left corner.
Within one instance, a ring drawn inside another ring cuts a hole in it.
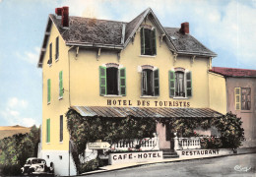
[[[23,175],[50,175],[53,174],[53,163],[48,167],[42,158],[28,158],[24,167],[21,168]]]

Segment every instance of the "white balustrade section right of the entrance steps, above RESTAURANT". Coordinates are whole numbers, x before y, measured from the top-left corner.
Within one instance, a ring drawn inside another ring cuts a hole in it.
[[[201,148],[200,137],[174,138],[174,149]]]

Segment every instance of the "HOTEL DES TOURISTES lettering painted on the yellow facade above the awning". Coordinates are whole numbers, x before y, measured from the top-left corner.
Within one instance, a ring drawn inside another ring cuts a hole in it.
[[[153,100],[132,100],[107,99],[107,105],[116,106],[156,106],[156,107],[190,107],[189,101],[153,101]]]

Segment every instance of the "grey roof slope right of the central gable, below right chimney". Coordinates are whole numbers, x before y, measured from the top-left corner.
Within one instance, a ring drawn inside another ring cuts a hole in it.
[[[167,36],[173,42],[177,53],[190,53],[199,55],[217,56],[216,53],[209,50],[191,34],[183,34],[178,28],[164,28]]]

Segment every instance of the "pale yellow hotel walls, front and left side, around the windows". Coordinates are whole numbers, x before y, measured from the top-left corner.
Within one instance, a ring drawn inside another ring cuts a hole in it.
[[[153,26],[149,20],[147,25]],[[144,24],[143,23],[143,24]],[[55,61],[55,38],[59,36],[59,60]],[[130,42],[121,51],[120,58],[117,51],[101,49],[97,57],[98,50],[92,48],[68,47],[65,45],[60,33],[53,25],[47,46],[52,42],[52,65],[48,66],[48,48],[44,55],[43,73],[43,94],[42,94],[42,149],[68,150],[69,133],[66,125],[65,113],[72,105],[75,106],[110,106],[107,100],[123,100],[138,105],[138,101],[149,101],[148,107],[160,106],[160,101],[182,101],[189,102],[186,107],[206,108],[210,107],[224,113],[224,97],[220,100],[214,94],[224,92],[225,88],[219,91],[214,86],[224,84],[223,78],[218,78],[208,73],[210,60],[207,57],[196,57],[178,55],[174,60],[173,53],[168,49],[164,41],[160,42],[160,33],[157,30],[157,55],[141,56],[140,29],[137,30],[134,41]],[[99,95],[99,66],[106,63],[116,63],[126,68],[126,96],[100,96]],[[152,65],[160,70],[160,96],[141,96],[141,71],[143,65]],[[186,98],[170,98],[168,71],[174,68],[184,68],[192,73],[192,96]],[[63,71],[63,98],[59,99],[59,72]],[[217,79],[216,79],[217,78]],[[47,103],[47,80],[51,80],[51,101]],[[212,82],[212,83],[211,83]],[[211,84],[209,84],[211,83]],[[212,92],[212,93],[210,93]],[[225,95],[221,95],[225,96]],[[158,104],[156,105],[156,102]],[[216,102],[217,101],[217,102]],[[219,101],[224,101],[219,103]],[[169,105],[167,105],[168,107]],[[176,106],[171,106],[176,107]],[[184,107],[183,104],[178,107]],[[63,142],[59,142],[59,117],[63,115]],[[50,118],[50,143],[46,143],[46,119]]]

